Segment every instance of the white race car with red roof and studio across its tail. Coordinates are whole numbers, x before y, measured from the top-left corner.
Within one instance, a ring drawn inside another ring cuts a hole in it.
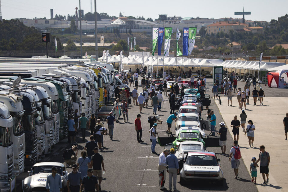
[[[188,152],[179,154],[180,184],[191,180],[215,181],[223,185],[223,171],[220,159],[213,152]]]

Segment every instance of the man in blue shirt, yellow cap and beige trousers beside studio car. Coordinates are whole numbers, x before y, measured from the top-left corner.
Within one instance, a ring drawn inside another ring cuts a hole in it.
[[[168,172],[169,172],[169,190],[172,190],[172,177],[173,177],[173,189],[174,191],[178,191],[176,189],[177,183],[177,173],[179,173],[179,164],[177,157],[174,155],[175,149],[170,149],[170,155],[167,155],[166,158],[166,165],[168,165]]]

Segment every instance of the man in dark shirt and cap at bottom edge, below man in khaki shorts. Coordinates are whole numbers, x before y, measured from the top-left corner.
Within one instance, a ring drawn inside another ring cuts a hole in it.
[[[94,171],[92,168],[87,170],[87,175],[83,177],[82,184],[80,186],[80,192],[82,192],[83,188],[85,188],[85,192],[98,192],[99,185],[97,182],[97,177],[93,175]]]

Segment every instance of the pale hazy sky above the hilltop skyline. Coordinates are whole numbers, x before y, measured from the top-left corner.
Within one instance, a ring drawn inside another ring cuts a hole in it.
[[[90,0],[81,0],[81,9],[84,14],[91,12]],[[121,2],[121,3],[120,3]],[[175,0],[101,0],[97,1],[97,12],[108,13],[110,16],[119,16],[120,11],[124,16],[144,16],[158,18],[158,14],[181,17],[222,18],[235,16],[234,12],[250,11],[251,15],[245,16],[248,20],[271,21],[288,12],[288,0],[204,0],[204,1],[175,1]],[[78,0],[2,0],[1,9],[3,19],[45,17],[50,19],[50,9],[55,14],[75,14],[75,7],[79,9]],[[94,0],[92,0],[94,12]]]

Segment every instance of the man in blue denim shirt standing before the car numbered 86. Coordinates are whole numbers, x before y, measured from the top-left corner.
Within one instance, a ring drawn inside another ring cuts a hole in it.
[[[60,192],[62,191],[62,181],[61,176],[57,173],[58,168],[53,166],[51,168],[52,173],[46,178],[46,190],[48,192]]]

